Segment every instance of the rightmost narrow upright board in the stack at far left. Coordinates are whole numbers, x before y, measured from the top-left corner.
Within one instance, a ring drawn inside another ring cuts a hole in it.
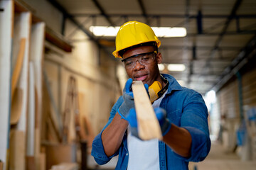
[[[31,45],[29,50],[29,61],[33,63],[34,72],[34,94],[35,94],[35,141],[34,141],[34,157],[36,169],[41,167],[41,127],[42,127],[42,81],[43,81],[43,50],[45,40],[45,23],[40,19],[32,16],[31,27]],[[31,91],[32,92],[32,91]],[[29,103],[30,105],[31,103]]]

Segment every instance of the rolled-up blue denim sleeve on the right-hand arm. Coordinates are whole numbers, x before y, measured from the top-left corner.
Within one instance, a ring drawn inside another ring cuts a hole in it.
[[[208,111],[201,94],[196,91],[192,91],[186,98],[181,116],[181,127],[188,130],[192,138],[191,157],[183,159],[186,162],[203,161],[210,152]]]

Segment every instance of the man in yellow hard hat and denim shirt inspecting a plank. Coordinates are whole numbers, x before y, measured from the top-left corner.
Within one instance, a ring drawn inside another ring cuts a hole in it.
[[[106,164],[119,154],[116,169],[181,170],[188,169],[188,162],[202,161],[210,151],[206,104],[201,94],[180,86],[168,74],[160,74],[160,45],[154,31],[144,23],[129,21],[119,29],[113,55],[122,58],[130,79],[107,125],[92,143],[92,156],[98,164]],[[153,86],[156,91],[158,98],[152,106],[161,125],[162,141],[143,141],[137,135],[133,80],[142,81],[146,90]]]

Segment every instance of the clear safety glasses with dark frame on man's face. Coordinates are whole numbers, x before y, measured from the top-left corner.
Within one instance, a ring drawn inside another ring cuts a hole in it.
[[[125,69],[133,69],[138,61],[139,64],[146,65],[154,61],[157,52],[145,52],[138,55],[132,55],[126,59],[123,59]]]

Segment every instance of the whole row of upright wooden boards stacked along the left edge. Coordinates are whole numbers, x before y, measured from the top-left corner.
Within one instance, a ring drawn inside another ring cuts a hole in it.
[[[17,1],[0,1],[0,8],[0,159],[3,169],[41,169],[45,25]]]

